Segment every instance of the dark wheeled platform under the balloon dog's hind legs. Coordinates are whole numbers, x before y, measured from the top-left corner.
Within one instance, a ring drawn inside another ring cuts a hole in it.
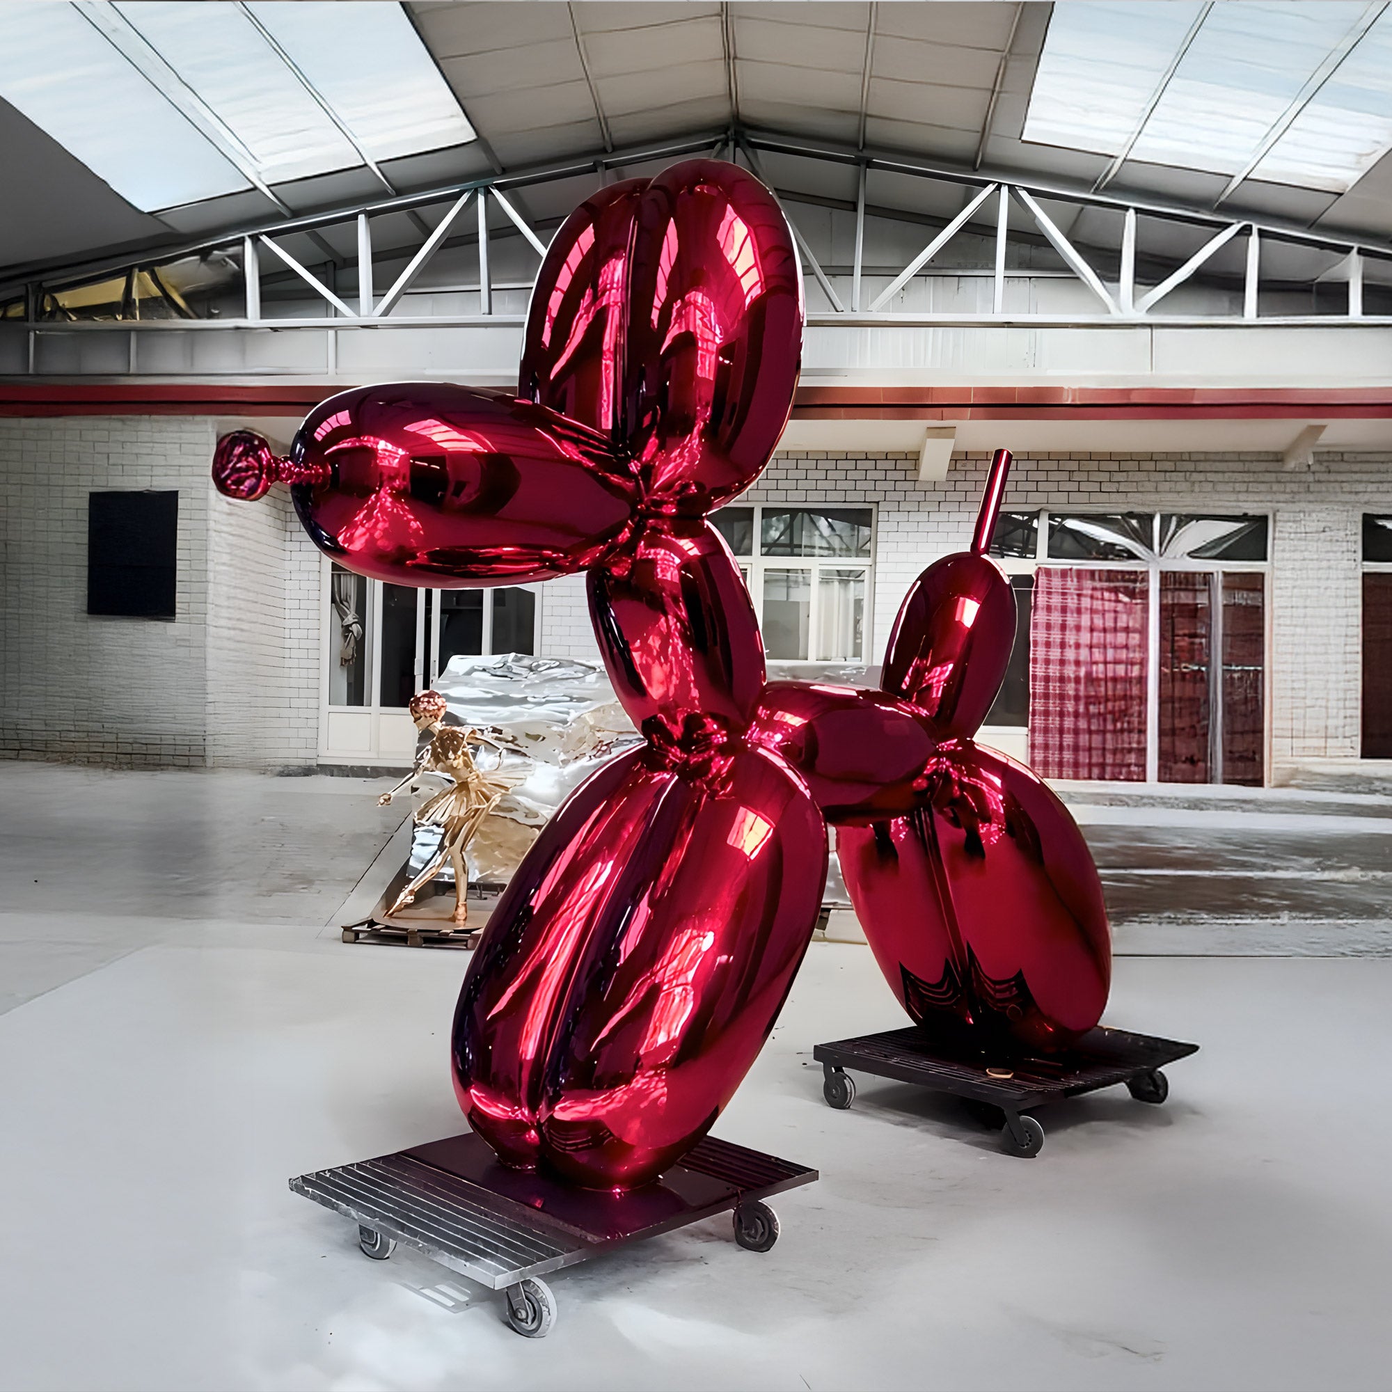
[[[812,1057],[821,1063],[823,1096],[839,1111],[856,1096],[846,1069],[916,1083],[963,1098],[981,1121],[999,1126],[1001,1150],[1030,1157],[1044,1146],[1044,1128],[1026,1111],[1118,1083],[1125,1083],[1137,1101],[1162,1102],[1169,1096],[1169,1080],[1161,1066],[1197,1051],[1197,1044],[1100,1025],[1069,1050],[1016,1054],[997,1066],[951,1052],[927,1031],[909,1026],[817,1044]]]

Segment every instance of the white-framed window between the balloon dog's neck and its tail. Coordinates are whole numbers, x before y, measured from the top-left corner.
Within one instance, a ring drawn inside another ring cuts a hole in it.
[[[773,661],[866,661],[874,508],[784,504],[711,515],[749,586]]]

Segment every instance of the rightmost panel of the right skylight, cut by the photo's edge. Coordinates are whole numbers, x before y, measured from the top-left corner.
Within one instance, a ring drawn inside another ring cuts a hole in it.
[[[1392,148],[1392,18],[1384,14],[1261,163],[1253,178],[1331,193]]]

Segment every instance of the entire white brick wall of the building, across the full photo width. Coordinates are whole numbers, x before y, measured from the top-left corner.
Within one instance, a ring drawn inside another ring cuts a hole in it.
[[[259,504],[209,484],[212,422],[0,419],[0,754],[129,764],[312,764],[319,738],[319,554],[284,490]],[[780,454],[752,503],[877,505],[871,657],[905,590],[966,546],[987,468],[958,455],[920,484],[915,455]],[[93,489],[178,489],[178,615],[86,608]],[[1274,514],[1272,761],[1356,757],[1363,511],[1392,512],[1392,457],[1016,458],[1012,509],[1037,507]],[[583,578],[543,587],[539,650],[597,658]]]

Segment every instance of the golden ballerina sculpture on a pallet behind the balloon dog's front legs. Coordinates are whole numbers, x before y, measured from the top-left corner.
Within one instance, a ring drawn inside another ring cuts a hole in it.
[[[404,789],[415,792],[416,784],[425,774],[438,774],[450,780],[448,786],[427,798],[415,814],[418,827],[440,828],[440,849],[397,895],[387,915],[390,917],[400,913],[412,903],[420,888],[429,884],[448,860],[454,867],[452,922],[462,927],[469,917],[466,903],[469,870],[464,853],[483,824],[483,818],[497,806],[508,788],[480,773],[473,761],[476,748],[489,746],[501,754],[503,745],[476,729],[445,725],[444,714],[445,699],[438,692],[419,692],[411,697],[411,718],[416,722],[416,729],[430,731],[430,743],[418,756],[415,768],[377,802],[386,807]]]

